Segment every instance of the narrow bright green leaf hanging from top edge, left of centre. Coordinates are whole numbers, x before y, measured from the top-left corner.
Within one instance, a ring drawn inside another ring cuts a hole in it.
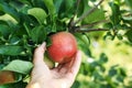
[[[54,14],[55,13],[55,6],[53,3],[53,0],[43,0],[44,4],[46,6],[48,13]]]

